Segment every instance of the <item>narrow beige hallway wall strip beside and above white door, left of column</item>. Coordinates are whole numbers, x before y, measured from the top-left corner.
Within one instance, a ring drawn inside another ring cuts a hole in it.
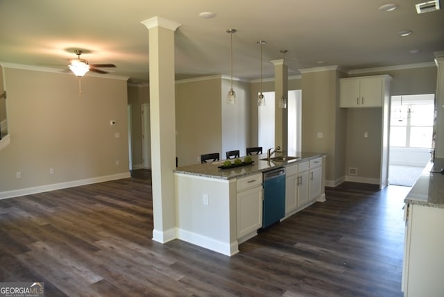
[[[128,105],[131,106],[131,132],[132,137],[132,151],[133,151],[133,167],[143,168],[142,156],[142,104],[149,104],[149,87],[142,86],[128,86]]]

